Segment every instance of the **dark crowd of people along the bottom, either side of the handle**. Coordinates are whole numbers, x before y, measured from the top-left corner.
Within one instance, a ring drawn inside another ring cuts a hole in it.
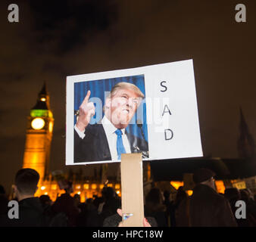
[[[254,227],[256,202],[248,189],[226,188],[218,194],[214,172],[198,169],[194,173],[195,188],[188,196],[180,187],[174,200],[170,191],[152,186],[145,195],[145,226],[151,227]],[[15,200],[19,204],[19,219],[8,215],[8,197],[0,186],[0,226],[8,227],[117,227],[122,224],[121,200],[113,188],[105,187],[101,197],[80,202],[80,195],[71,196],[70,183],[65,193],[53,202],[48,195],[34,197],[39,174],[33,169],[20,169],[15,176]],[[236,202],[245,202],[245,216],[237,216]]]

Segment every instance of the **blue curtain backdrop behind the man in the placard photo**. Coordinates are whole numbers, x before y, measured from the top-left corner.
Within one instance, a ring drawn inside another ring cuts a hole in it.
[[[118,78],[111,79],[100,79],[89,82],[76,82],[74,83],[74,110],[79,110],[80,104],[83,102],[83,99],[86,97],[86,93],[88,90],[91,91],[89,101],[93,101],[95,103],[95,116],[91,119],[91,124],[98,123],[102,116],[100,113],[102,112],[102,107],[105,105],[105,92],[111,92],[111,88],[117,84],[117,82],[130,82],[136,85],[142,93],[145,95],[145,82],[144,75],[138,76],[124,76]],[[108,95],[107,95],[108,96]],[[95,98],[100,98],[102,102],[102,107],[100,104],[97,105],[95,102]],[[139,111],[136,112],[135,116],[131,120],[131,124],[127,126],[126,131],[136,135],[139,138],[142,138],[142,132],[139,127],[136,125],[136,119],[140,119],[142,121],[142,129],[145,135],[145,140],[148,141],[148,129],[146,123],[146,105],[145,102],[139,107]],[[74,116],[74,124],[76,123],[76,116]]]

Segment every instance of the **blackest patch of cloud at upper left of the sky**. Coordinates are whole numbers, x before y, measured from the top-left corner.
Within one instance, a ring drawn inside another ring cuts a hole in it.
[[[86,45],[95,33],[108,29],[117,20],[113,1],[30,1],[36,41],[54,43],[48,51],[65,54],[77,45]]]

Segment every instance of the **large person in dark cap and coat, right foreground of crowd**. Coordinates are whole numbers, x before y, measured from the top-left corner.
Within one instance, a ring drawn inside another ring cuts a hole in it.
[[[198,169],[193,175],[195,188],[191,197],[180,203],[177,226],[236,227],[229,201],[218,194],[214,182],[215,173],[210,169]]]

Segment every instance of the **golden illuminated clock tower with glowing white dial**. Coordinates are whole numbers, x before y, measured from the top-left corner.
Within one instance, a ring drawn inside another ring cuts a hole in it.
[[[27,117],[26,144],[23,168],[36,169],[39,172],[39,185],[48,175],[50,147],[54,118],[50,110],[49,95],[44,84],[39,92],[36,105]]]

